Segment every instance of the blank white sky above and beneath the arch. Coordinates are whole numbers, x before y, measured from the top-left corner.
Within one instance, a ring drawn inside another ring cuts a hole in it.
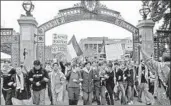
[[[32,1],[35,9],[32,12],[33,17],[36,18],[38,26],[53,19],[60,9],[73,7],[74,4],[80,1]],[[16,32],[20,32],[18,19],[21,14],[25,14],[22,8],[23,1],[1,1],[1,26],[5,28],[14,28]],[[139,14],[141,9],[141,1],[100,1],[100,3],[121,13],[125,21],[136,26],[138,20],[142,19]],[[155,25],[154,30],[158,27]],[[123,39],[132,37],[132,33],[120,28],[116,25],[101,22],[101,21],[77,21],[63,24],[46,32],[46,45],[52,45],[52,35],[66,34],[68,40],[73,35],[76,36],[77,41],[87,37],[109,37],[112,39]]]

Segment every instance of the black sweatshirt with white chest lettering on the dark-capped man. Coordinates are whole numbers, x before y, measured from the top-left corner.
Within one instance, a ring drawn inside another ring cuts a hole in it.
[[[33,78],[33,81],[31,82],[33,91],[40,91],[46,88],[46,82],[43,80],[43,78],[49,79],[49,75],[48,72],[42,67],[39,70],[33,68],[29,72],[29,79],[30,78]],[[37,82],[40,82],[41,85],[36,86]]]

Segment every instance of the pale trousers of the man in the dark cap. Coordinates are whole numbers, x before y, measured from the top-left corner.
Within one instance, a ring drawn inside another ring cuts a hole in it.
[[[45,105],[45,89],[33,91],[33,104]]]

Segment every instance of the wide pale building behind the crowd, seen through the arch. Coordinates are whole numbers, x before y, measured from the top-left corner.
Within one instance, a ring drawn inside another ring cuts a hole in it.
[[[87,37],[86,39],[81,39],[79,42],[84,56],[90,58],[100,58],[103,39],[105,39],[106,45],[121,43],[124,53],[126,53],[127,51],[132,51],[133,49],[133,42],[130,38],[109,39],[108,37]]]

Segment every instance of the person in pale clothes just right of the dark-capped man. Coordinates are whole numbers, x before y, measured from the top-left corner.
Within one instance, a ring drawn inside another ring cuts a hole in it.
[[[59,63],[53,64],[53,71],[49,77],[53,105],[59,105],[63,102],[63,84],[65,83],[66,79],[65,75],[61,72]]]

